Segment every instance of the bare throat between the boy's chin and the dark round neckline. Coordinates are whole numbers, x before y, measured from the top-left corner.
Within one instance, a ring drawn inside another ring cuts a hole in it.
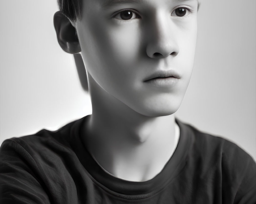
[[[150,180],[162,171],[179,139],[174,117],[157,119],[147,121],[141,128],[122,127],[123,134],[94,134],[86,142],[88,150],[101,168],[114,177],[137,182]]]

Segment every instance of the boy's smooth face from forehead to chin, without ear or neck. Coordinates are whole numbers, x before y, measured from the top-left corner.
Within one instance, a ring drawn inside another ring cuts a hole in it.
[[[145,116],[174,113],[193,69],[197,0],[86,0],[76,29],[88,73]]]

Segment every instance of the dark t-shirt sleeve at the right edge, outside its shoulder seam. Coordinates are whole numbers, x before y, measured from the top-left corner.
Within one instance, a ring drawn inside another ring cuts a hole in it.
[[[224,151],[222,155],[224,192],[230,191],[234,194],[235,204],[256,204],[255,161],[237,145],[226,142],[225,146],[228,151]],[[225,195],[223,197],[225,198]]]

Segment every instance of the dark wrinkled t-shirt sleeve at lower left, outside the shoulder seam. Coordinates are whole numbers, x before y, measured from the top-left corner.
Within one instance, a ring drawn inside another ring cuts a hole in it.
[[[50,203],[36,169],[36,161],[20,144],[5,140],[0,148],[0,203]]]

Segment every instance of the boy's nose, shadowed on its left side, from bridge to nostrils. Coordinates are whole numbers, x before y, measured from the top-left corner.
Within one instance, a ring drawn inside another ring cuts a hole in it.
[[[179,46],[175,39],[175,24],[170,19],[170,16],[159,12],[147,29],[147,56],[154,59],[165,58],[169,55],[176,56],[179,53]],[[176,30],[177,31],[177,30]]]

